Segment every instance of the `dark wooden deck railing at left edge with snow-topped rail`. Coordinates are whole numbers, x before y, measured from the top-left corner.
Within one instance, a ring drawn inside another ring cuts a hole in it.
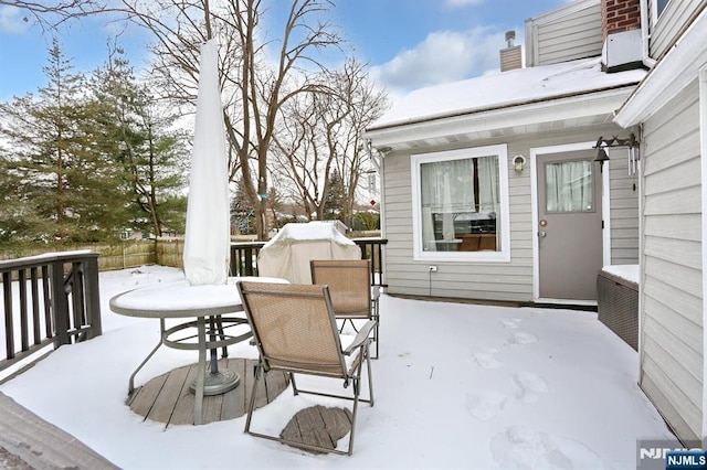
[[[66,252],[0,261],[0,371],[53,344],[101,335],[98,254]]]

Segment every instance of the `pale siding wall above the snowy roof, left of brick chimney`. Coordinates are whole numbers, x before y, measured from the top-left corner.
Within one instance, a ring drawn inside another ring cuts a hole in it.
[[[526,65],[548,65],[601,55],[599,0],[569,3],[526,20]]]

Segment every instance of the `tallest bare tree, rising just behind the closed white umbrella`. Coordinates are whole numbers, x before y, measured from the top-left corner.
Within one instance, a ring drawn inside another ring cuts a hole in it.
[[[176,103],[197,96],[199,45],[211,35],[220,45],[220,78],[229,140],[231,180],[241,173],[243,190],[255,206],[260,239],[267,238],[268,153],[283,107],[305,92],[327,90],[317,82],[326,67],[323,49],[337,47],[339,36],[319,21],[331,0],[291,0],[277,42],[261,28],[261,0],[123,0],[126,11],[157,40],[154,77]],[[270,60],[271,51],[274,58]]]

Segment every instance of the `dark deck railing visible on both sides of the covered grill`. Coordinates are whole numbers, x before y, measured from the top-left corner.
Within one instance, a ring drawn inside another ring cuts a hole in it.
[[[383,246],[386,238],[352,238],[361,248],[361,258],[371,260],[371,286],[386,287],[383,273]],[[265,242],[231,244],[231,274],[233,276],[257,276],[257,254]]]

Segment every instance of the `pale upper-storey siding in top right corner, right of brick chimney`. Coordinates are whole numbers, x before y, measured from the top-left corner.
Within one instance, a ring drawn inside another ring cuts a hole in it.
[[[657,21],[654,21],[653,2],[647,3],[651,22],[650,54],[657,60],[669,51],[678,32],[690,23],[696,12],[707,6],[707,0],[673,0],[665,7]]]

